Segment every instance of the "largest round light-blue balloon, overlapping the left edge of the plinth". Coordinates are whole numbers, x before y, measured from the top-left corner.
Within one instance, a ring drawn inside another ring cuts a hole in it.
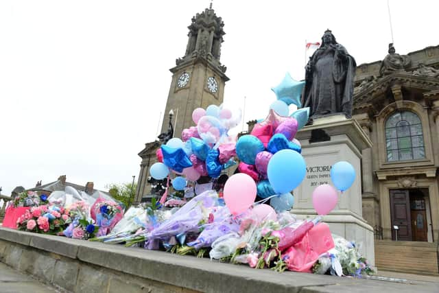
[[[276,194],[286,194],[298,187],[306,173],[305,160],[294,150],[280,150],[268,162],[268,180]]]

